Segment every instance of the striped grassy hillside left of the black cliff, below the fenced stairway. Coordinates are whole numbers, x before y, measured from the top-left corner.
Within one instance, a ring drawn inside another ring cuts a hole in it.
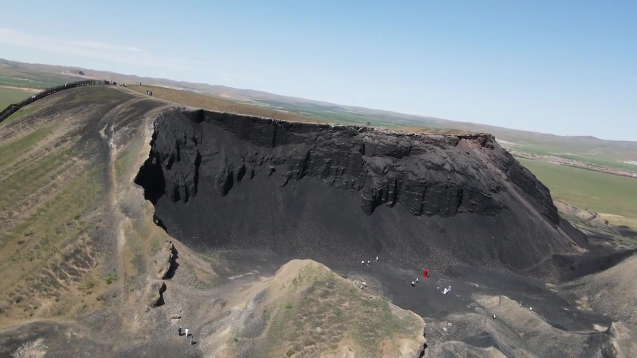
[[[0,126],[0,327],[29,318],[73,318],[117,304],[166,240],[152,224],[152,207],[132,185],[147,155],[141,146],[148,121],[138,113],[130,114],[131,121],[115,110],[131,99],[115,88],[67,90]],[[50,106],[57,111],[43,115]],[[103,118],[115,119],[115,125],[127,121],[117,130],[122,137],[113,140],[112,162],[104,161],[108,145],[99,145],[97,122]],[[126,218],[121,226],[130,236],[122,249],[131,257],[114,261],[115,192],[124,191],[127,200],[138,200],[128,210],[136,220]]]

